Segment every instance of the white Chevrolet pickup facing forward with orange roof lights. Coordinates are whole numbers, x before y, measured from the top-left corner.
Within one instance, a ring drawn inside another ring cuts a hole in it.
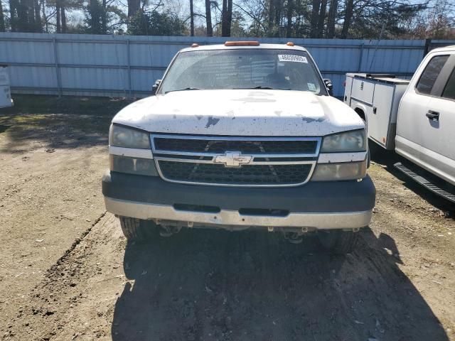
[[[351,251],[375,187],[365,124],[330,86],[293,43],[179,51],[155,95],[112,120],[107,210],[128,239],[255,228]]]

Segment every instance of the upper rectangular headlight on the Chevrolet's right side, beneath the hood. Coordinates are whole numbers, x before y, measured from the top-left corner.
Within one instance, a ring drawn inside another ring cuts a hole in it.
[[[365,129],[324,137],[321,153],[366,151]]]

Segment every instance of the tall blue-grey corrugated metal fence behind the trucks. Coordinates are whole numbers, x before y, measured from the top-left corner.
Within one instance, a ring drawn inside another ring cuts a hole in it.
[[[178,50],[191,43],[215,44],[225,40],[0,33],[0,64],[9,65],[14,93],[144,97]],[[262,43],[287,43],[288,40],[259,39]],[[292,41],[308,48],[323,76],[333,81],[334,94],[338,97],[344,92],[346,72],[410,77],[422,60],[425,48],[425,40]]]

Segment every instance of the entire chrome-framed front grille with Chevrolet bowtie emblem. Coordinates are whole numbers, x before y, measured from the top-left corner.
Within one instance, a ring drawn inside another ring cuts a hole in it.
[[[321,146],[320,137],[152,134],[151,141],[164,180],[252,187],[306,183]]]

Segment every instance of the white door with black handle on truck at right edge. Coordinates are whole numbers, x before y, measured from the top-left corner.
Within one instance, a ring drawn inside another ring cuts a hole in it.
[[[425,168],[455,185],[455,52],[435,84],[422,123]]]

